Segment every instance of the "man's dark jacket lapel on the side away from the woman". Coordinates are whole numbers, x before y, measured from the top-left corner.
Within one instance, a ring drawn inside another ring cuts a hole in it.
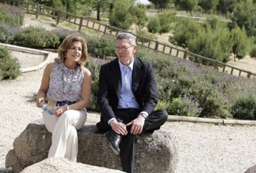
[[[142,79],[142,63],[137,59],[137,57],[134,57],[134,69],[132,70],[132,90],[135,94],[140,80]]]

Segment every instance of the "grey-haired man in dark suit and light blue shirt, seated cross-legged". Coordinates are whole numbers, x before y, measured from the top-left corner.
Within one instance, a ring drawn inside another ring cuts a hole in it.
[[[97,127],[120,154],[123,171],[134,172],[136,135],[153,133],[168,118],[158,102],[152,65],[134,56],[137,46],[130,33],[116,38],[117,57],[100,69]]]

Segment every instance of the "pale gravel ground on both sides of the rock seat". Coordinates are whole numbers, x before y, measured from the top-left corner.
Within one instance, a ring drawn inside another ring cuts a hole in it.
[[[14,139],[30,122],[41,119],[33,93],[42,75],[40,69],[0,82],[0,172],[11,172],[4,167]],[[98,120],[99,114],[91,112],[85,125]],[[167,122],[163,129],[177,141],[176,172],[244,172],[256,164],[256,126]]]

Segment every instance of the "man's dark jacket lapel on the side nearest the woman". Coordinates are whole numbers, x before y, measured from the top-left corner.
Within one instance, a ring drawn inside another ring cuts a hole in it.
[[[116,91],[116,95],[119,98],[121,92],[121,72],[117,58],[113,61],[113,64],[111,64],[110,75],[114,90]]]

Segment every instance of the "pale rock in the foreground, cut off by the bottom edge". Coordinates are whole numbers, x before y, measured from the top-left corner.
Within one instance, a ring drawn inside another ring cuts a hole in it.
[[[21,173],[122,173],[122,171],[105,167],[90,166],[78,162],[71,162],[67,158],[48,158],[32,166],[28,166]]]

